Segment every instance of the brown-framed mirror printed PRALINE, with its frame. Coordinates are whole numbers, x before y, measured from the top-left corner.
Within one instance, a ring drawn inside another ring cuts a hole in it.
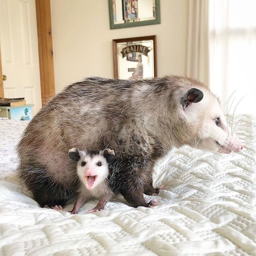
[[[156,35],[113,40],[114,78],[142,79],[157,76]]]

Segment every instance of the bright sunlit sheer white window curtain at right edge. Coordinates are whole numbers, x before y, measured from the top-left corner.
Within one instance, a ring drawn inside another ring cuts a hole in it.
[[[209,57],[211,90],[256,114],[256,0],[209,0]]]

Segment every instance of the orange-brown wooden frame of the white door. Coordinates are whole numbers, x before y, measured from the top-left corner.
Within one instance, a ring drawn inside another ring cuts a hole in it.
[[[55,95],[50,0],[35,0],[42,106]],[[0,97],[4,97],[0,49]]]

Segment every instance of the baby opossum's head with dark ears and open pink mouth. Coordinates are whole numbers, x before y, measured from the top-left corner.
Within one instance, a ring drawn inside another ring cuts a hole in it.
[[[72,148],[68,155],[69,158],[77,162],[77,173],[80,180],[88,190],[92,190],[108,177],[108,161],[114,158],[114,151],[106,149],[95,154]]]

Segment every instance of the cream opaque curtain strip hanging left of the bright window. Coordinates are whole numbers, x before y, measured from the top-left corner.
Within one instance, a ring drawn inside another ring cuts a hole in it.
[[[187,75],[209,86],[208,0],[189,0]]]

